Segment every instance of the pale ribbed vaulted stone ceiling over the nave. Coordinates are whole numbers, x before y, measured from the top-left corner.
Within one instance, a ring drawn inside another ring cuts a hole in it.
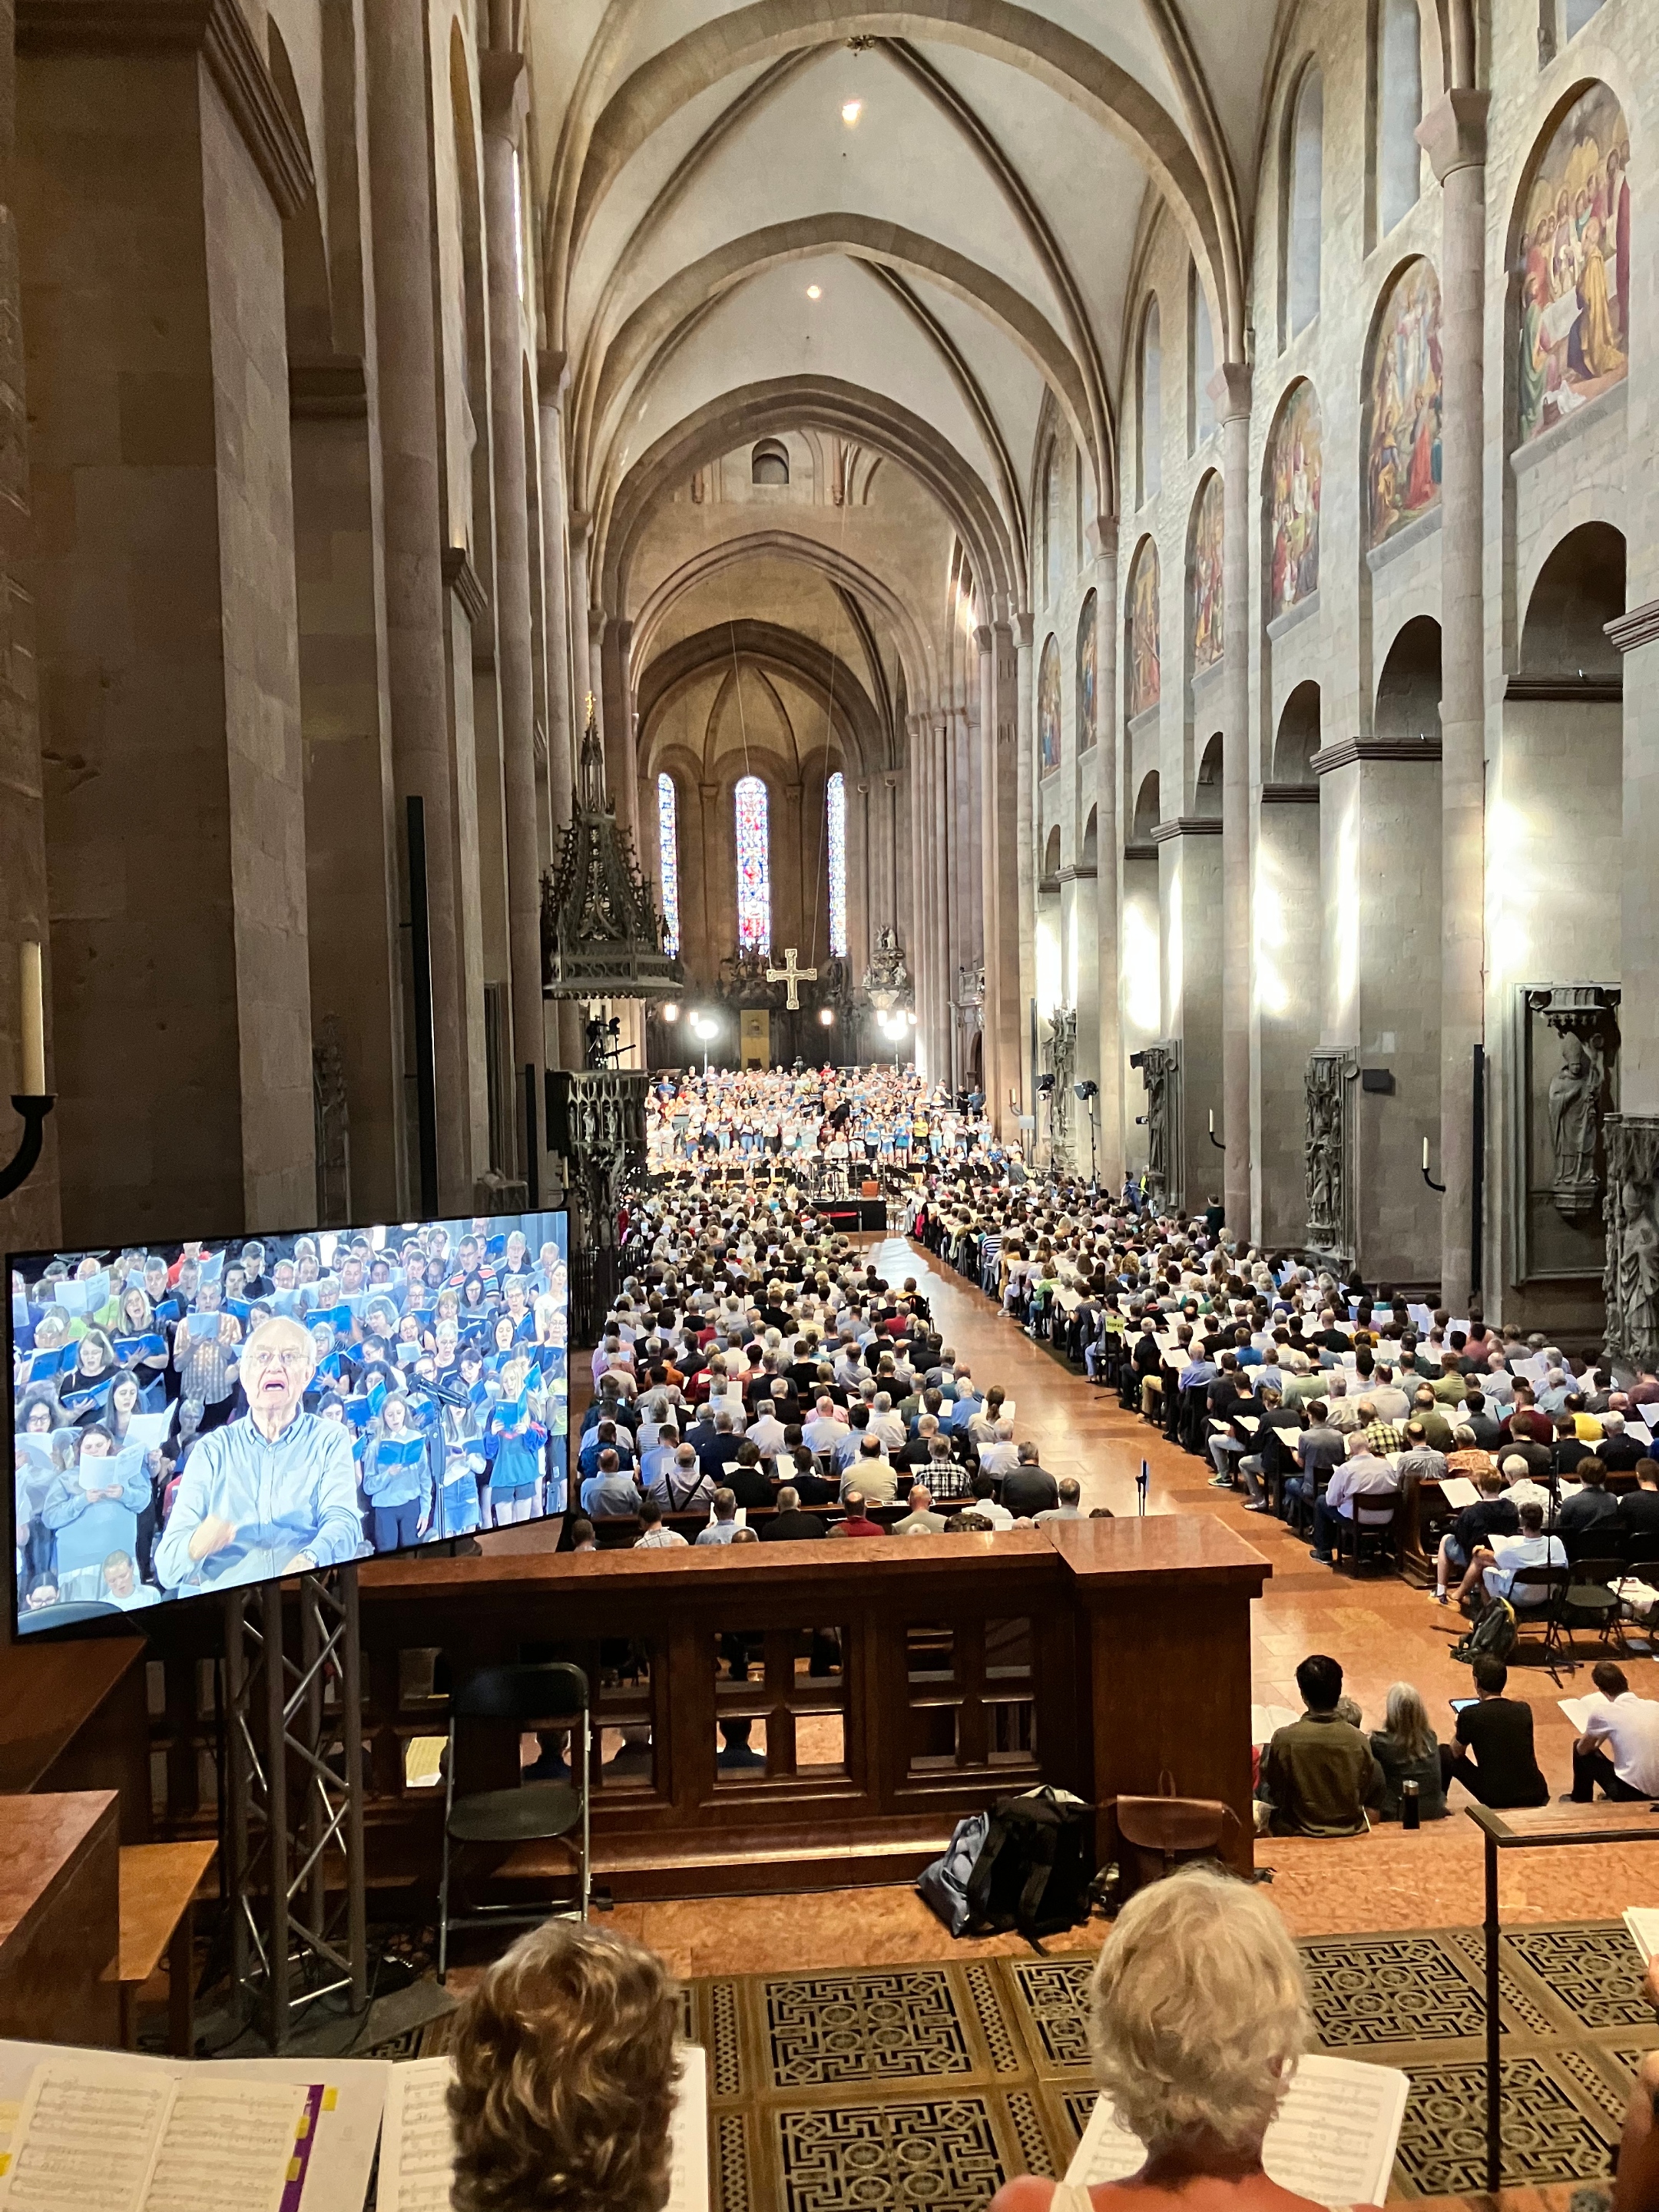
[[[1024,604],[1044,405],[1115,511],[1150,192],[1243,352],[1274,0],[529,0],[549,345],[595,599],[666,487],[768,429],[902,460]]]

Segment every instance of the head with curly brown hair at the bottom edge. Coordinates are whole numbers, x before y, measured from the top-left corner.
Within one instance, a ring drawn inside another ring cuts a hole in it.
[[[544,1920],[460,2000],[449,2055],[456,2212],[668,2201],[679,1991],[644,1944]]]

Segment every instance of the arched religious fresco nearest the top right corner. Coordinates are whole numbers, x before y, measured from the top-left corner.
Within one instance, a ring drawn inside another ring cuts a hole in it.
[[[1606,84],[1551,133],[1520,228],[1515,442],[1630,372],[1630,128]]]

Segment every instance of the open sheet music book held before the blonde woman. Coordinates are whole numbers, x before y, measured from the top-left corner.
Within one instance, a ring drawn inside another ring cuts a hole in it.
[[[1396,2066],[1360,2059],[1305,2057],[1267,2128],[1261,2163],[1267,2179],[1316,2205],[1380,2205],[1389,2192],[1394,2150],[1400,2141],[1405,2097],[1411,2088]],[[1066,2168],[1071,2188],[1124,2181],[1139,2172],[1146,2152],[1117,2126],[1099,2097],[1082,2143]]]

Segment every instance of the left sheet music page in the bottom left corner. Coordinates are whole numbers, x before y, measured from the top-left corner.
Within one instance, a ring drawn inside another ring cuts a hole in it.
[[[4,2212],[139,2212],[173,2108],[173,2081],[69,2055],[35,2066],[0,2159]]]

